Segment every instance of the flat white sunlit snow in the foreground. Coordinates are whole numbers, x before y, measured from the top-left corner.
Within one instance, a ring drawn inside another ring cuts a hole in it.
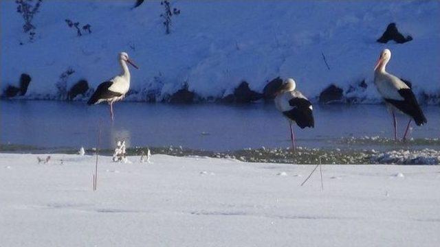
[[[438,246],[438,166],[0,154],[0,246]],[[63,161],[63,162],[61,162]],[[61,165],[63,163],[63,165]],[[207,176],[210,174],[210,176]],[[283,174],[280,176],[278,174]]]

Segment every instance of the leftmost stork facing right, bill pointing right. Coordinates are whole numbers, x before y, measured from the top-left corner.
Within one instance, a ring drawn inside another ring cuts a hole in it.
[[[108,102],[110,106],[111,121],[113,121],[113,103],[124,98],[125,94],[130,89],[130,71],[127,62],[136,69],[139,69],[133,61],[130,60],[129,54],[121,52],[118,57],[119,63],[122,67],[122,73],[115,76],[111,80],[102,82],[93,95],[91,95],[88,105],[100,104],[101,102]]]

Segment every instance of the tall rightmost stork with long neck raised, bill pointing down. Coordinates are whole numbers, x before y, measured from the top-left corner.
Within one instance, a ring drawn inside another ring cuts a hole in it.
[[[388,109],[393,115],[395,141],[397,141],[397,120],[395,112],[404,113],[410,117],[408,126],[406,126],[404,137],[402,138],[402,141],[405,141],[412,119],[414,119],[417,126],[422,126],[423,124],[426,124],[427,121],[410,87],[405,82],[402,82],[399,78],[397,78],[397,76],[386,72],[386,64],[388,64],[390,59],[391,51],[389,49],[384,49],[380,54],[379,60],[377,60],[374,68],[374,83],[377,87],[377,91],[379,91],[380,95],[382,95],[386,105],[388,106]]]

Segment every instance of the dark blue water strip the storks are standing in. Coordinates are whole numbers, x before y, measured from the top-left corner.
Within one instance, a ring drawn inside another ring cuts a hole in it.
[[[276,148],[290,145],[287,121],[273,104],[223,106],[118,102],[115,121],[107,104],[85,102],[0,101],[0,143],[54,148],[95,147],[101,123],[101,147],[116,139],[129,146],[183,146],[199,150]],[[440,107],[424,106],[426,126],[415,126],[408,148],[439,148]],[[297,145],[309,148],[395,148],[391,117],[382,105],[314,106],[316,128],[296,127]],[[407,118],[399,117],[399,134]],[[388,139],[364,139],[362,137]],[[425,140],[429,139],[429,140]],[[437,139],[437,140],[436,140]],[[411,142],[410,142],[411,143]]]

